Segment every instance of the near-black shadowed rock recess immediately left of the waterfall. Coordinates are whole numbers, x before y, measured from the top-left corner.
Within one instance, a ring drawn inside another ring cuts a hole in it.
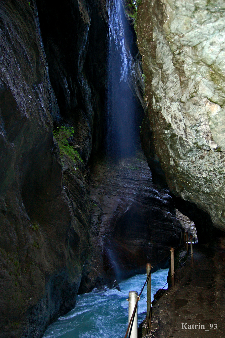
[[[108,30],[104,1],[36,2],[52,88],[61,118],[74,126],[73,146],[84,169],[92,144],[97,150],[103,140]]]

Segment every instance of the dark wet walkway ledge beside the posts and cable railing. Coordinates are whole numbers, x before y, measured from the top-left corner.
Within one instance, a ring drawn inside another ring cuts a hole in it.
[[[189,259],[177,271],[175,287],[153,305],[148,338],[225,337],[225,250],[193,246],[194,264]],[[139,337],[146,320],[142,325]]]

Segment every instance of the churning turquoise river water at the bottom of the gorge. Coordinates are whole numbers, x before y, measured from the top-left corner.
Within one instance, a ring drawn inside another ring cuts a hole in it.
[[[166,283],[168,269],[152,274],[152,300],[159,288]],[[44,338],[122,338],[128,327],[129,291],[140,293],[145,274],[138,274],[121,282],[116,289],[93,290],[77,296],[76,306],[64,317],[51,324]],[[146,286],[138,301],[138,324],[146,316]]]

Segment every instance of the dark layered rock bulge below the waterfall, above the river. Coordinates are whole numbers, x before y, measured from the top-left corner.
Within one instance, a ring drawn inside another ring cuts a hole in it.
[[[107,271],[109,282],[146,271],[147,261],[161,260],[178,244],[181,232],[173,199],[152,183],[141,150],[117,160],[98,155],[89,180],[94,210],[90,247],[95,254],[84,266],[81,292],[94,285],[101,270],[101,278]],[[90,268],[93,262],[95,270]]]

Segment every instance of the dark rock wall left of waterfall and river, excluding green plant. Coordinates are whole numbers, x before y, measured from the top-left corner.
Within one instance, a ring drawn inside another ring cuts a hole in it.
[[[49,323],[75,305],[91,221],[84,169],[92,143],[97,149],[102,140],[104,120],[103,2],[37,5],[38,10],[32,0],[0,3],[4,338],[41,337]],[[94,68],[98,52],[101,67]],[[83,162],[74,167],[64,156],[62,168],[53,124],[74,127],[70,142]]]

